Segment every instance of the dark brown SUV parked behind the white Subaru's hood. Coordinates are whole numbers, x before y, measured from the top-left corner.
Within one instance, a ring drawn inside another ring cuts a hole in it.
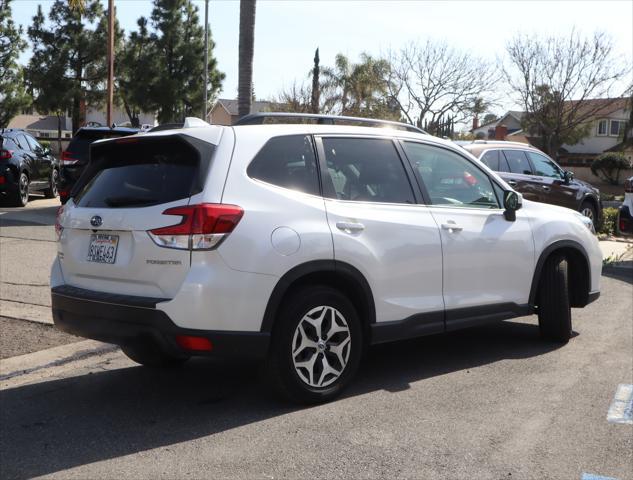
[[[596,230],[602,219],[600,191],[574,179],[573,173],[530,145],[478,140],[462,148],[496,171],[523,197],[576,210],[589,217]]]

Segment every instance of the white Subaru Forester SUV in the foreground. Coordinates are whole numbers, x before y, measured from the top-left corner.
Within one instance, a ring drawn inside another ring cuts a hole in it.
[[[94,143],[58,214],[57,327],[153,367],[262,359],[300,402],[377,343],[533,313],[569,340],[599,296],[590,220],[410,126],[323,120]]]

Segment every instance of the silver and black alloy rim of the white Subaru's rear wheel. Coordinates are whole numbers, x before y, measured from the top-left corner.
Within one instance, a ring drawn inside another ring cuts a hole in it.
[[[327,387],[344,372],[352,337],[345,317],[330,306],[315,307],[299,321],[292,340],[292,362],[311,387]]]

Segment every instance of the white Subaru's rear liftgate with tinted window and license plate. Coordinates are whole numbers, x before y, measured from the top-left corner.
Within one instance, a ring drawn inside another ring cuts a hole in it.
[[[175,295],[191,252],[159,246],[148,231],[182,223],[183,216],[164,212],[188,205],[204,185],[214,147],[187,138],[95,145],[93,162],[60,218],[58,250],[67,284],[153,298]]]

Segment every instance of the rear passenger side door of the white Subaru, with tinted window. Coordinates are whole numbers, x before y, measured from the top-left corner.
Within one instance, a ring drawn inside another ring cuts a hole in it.
[[[444,330],[442,247],[428,207],[391,138],[317,138],[334,258],[372,288],[378,322]]]

